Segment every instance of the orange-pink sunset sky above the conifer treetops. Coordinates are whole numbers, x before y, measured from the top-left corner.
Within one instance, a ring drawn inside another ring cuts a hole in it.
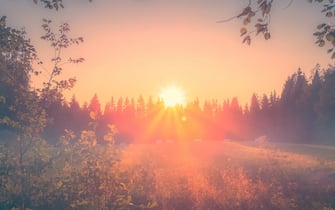
[[[244,105],[253,93],[280,94],[299,67],[309,76],[316,64],[332,63],[312,35],[322,20],[320,7],[299,0],[286,8],[289,2],[275,1],[271,39],[256,37],[251,46],[241,42],[241,19],[217,23],[238,14],[246,0],[65,0],[58,12],[32,0],[1,0],[0,15],[9,26],[25,28],[44,61],[42,70],[50,69],[53,54],[40,39],[43,18],[55,27],[67,22],[72,36],[84,38],[63,54],[85,58],[63,66],[64,77],[78,80],[66,94],[81,103],[94,94],[102,104],[112,96],[156,98],[175,85],[187,100],[238,97]]]

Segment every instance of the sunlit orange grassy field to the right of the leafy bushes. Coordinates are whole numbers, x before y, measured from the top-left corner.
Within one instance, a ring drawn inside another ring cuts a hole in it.
[[[134,202],[157,209],[333,209],[335,148],[255,142],[129,145]]]

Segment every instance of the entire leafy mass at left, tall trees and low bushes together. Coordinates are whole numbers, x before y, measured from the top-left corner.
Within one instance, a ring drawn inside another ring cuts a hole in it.
[[[2,20],[5,20],[3,18]],[[51,29],[51,21],[43,20],[45,35],[55,57],[53,69],[41,89],[30,86],[30,74],[37,61],[34,48],[24,33],[1,25],[0,73],[1,125],[15,131],[16,139],[4,136],[0,142],[0,208],[1,209],[138,209],[125,185],[126,172],[120,172],[117,163],[120,149],[114,146],[117,129],[109,125],[103,144],[97,142],[99,113],[89,114],[89,128],[76,133],[66,129],[60,143],[50,144],[42,136],[46,126],[57,121],[52,111],[66,104],[62,92],[74,81],[58,80],[63,72],[61,52],[82,38],[70,38],[67,24],[59,34]],[[69,59],[70,63],[83,59]],[[20,84],[20,85],[17,85]],[[100,106],[99,103],[96,106]],[[69,110],[78,111],[72,100]],[[63,112],[65,114],[67,112]],[[54,114],[60,114],[54,112]],[[88,115],[88,113],[87,113]],[[79,119],[79,118],[78,118]],[[140,209],[152,205],[141,204]]]

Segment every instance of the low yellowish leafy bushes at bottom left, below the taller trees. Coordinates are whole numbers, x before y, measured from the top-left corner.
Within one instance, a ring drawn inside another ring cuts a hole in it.
[[[117,165],[121,150],[114,145],[115,129],[111,125],[104,144],[97,144],[97,118],[91,116],[89,128],[78,136],[66,130],[58,145],[35,139],[24,156],[16,144],[0,145],[2,209],[137,208],[125,184],[127,172]]]

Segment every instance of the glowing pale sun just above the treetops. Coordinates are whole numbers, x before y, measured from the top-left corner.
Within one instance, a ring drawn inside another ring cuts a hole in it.
[[[160,92],[159,98],[164,101],[166,107],[185,106],[186,104],[184,91],[176,86],[164,88]]]

